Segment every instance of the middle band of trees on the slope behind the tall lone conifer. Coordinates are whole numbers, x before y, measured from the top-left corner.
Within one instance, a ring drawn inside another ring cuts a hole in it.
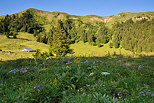
[[[58,28],[60,30],[55,29],[57,25],[60,25]],[[54,21],[50,26],[50,32],[43,32],[38,36],[37,41],[51,44],[53,35],[58,37],[58,31],[63,31],[69,43],[83,41],[99,47],[108,43],[112,38],[111,31],[102,22],[84,23],[81,20],[66,19]]]

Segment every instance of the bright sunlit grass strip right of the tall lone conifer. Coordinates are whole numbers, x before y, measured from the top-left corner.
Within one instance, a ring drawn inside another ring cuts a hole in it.
[[[133,56],[134,53],[120,48],[110,48],[109,44],[105,44],[103,47],[92,46],[89,43],[75,43],[70,46],[74,50],[74,56],[106,56],[106,55],[124,55]]]

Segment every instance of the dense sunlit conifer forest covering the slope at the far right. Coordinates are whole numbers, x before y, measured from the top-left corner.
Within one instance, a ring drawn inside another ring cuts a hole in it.
[[[113,26],[113,46],[133,52],[154,51],[154,19],[117,23]]]

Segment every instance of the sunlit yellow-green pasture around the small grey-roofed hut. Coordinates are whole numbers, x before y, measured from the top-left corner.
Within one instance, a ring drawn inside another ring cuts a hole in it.
[[[19,33],[17,39],[8,39],[0,35],[0,49],[2,49],[0,59],[2,61],[32,58],[33,53],[21,51],[24,48],[40,49],[45,52],[48,51],[49,45],[36,42],[36,38],[28,33]]]

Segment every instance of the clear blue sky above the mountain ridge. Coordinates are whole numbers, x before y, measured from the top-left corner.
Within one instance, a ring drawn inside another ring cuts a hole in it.
[[[154,0],[0,0],[0,15],[28,8],[81,16],[111,16],[121,12],[154,11]]]

